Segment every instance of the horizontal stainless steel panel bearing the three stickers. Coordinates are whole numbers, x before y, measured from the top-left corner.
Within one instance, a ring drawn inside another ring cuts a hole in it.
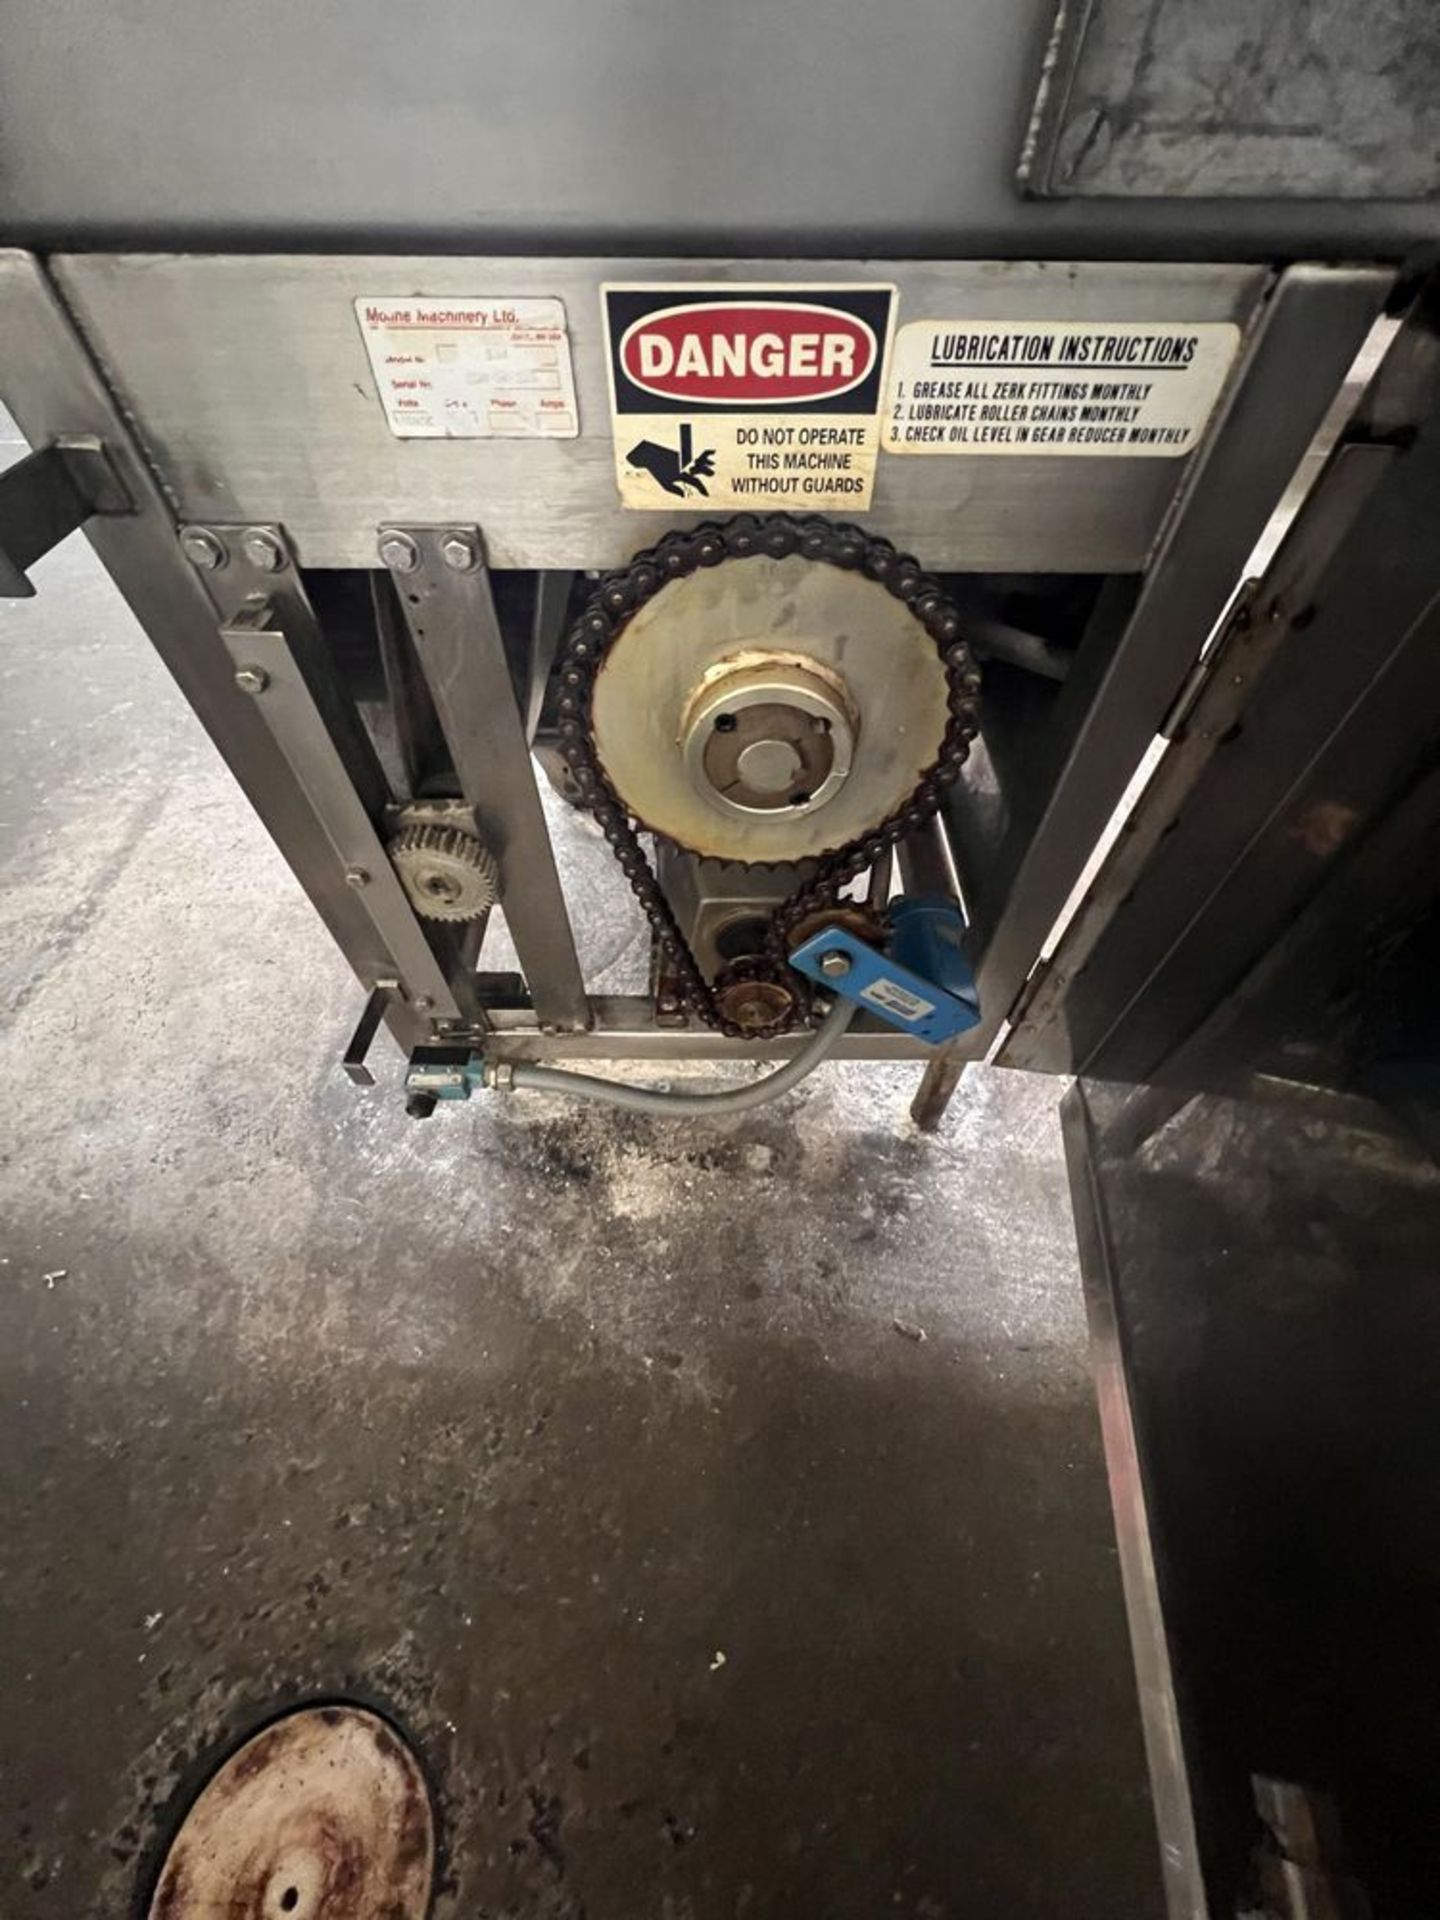
[[[52,261],[184,520],[282,522],[307,566],[372,566],[380,522],[478,522],[493,566],[614,566],[699,515],[616,497],[599,286],[895,282],[916,319],[1236,321],[1263,267],[1033,261],[444,259],[75,253]],[[353,301],[564,301],[580,438],[397,440]],[[945,570],[1139,568],[1183,459],[879,457],[876,532]]]

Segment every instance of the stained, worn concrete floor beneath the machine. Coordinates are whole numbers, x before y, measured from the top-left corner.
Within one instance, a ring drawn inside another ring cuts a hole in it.
[[[217,1745],[386,1705],[463,1920],[1156,1910],[1058,1089],[474,1102],[83,543],[0,605],[0,1914],[132,1910]],[[584,828],[582,941],[634,964]],[[924,1338],[920,1338],[924,1334]]]

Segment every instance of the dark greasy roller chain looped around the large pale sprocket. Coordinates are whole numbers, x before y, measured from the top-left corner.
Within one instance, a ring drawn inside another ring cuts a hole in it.
[[[645,607],[662,586],[682,580],[701,566],[722,566],[751,557],[785,559],[799,553],[826,566],[864,572],[887,593],[902,601],[929,636],[945,666],[947,720],[939,751],[900,804],[868,833],[843,847],[831,847],[814,864],[804,883],[774,912],[770,920],[770,977],[789,983],[789,948],[793,929],[812,914],[833,910],[841,887],[874,866],[906,833],[922,826],[941,804],[945,787],[958,776],[977,732],[979,674],[962,637],[960,612],[939,584],[922,572],[908,553],[899,553],[889,540],[877,540],[864,528],[835,520],[795,518],[793,515],[735,515],[732,520],[707,522],[691,532],[672,532],[655,547],[637,553],[628,566],[607,574],[586,603],[580,620],[570,630],[559,664],[559,735],[574,781],[586,804],[599,820],[614,849],[620,870],[645,910],[651,931],[672,972],[682,1004],[708,1025],[737,1039],[755,1039],[755,1031],[732,1020],[716,989],[705,979],[680,929],[664,891],[651,872],[639,831],[611,785],[593,743],[595,680],[614,639],[632,616]],[[797,1008],[803,1002],[797,1002]],[[791,1010],[787,1025],[795,1020]],[[776,1027],[774,1031],[783,1031]]]

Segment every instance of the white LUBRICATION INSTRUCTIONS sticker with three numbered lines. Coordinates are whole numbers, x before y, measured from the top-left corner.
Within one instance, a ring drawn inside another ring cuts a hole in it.
[[[914,321],[895,340],[887,453],[1190,453],[1229,372],[1229,321]]]

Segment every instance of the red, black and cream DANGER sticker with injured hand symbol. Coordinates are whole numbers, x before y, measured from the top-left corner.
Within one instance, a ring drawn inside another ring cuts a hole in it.
[[[893,286],[605,286],[620,501],[868,507]]]

